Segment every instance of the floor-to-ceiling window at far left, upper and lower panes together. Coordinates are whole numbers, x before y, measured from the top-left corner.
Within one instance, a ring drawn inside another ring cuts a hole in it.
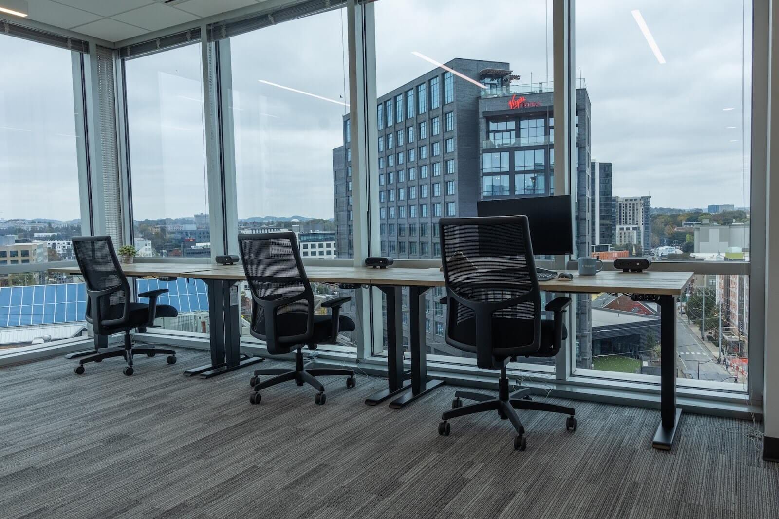
[[[0,34],[0,352],[86,331],[83,283],[51,274],[73,260],[86,177],[81,56]],[[75,85],[75,86],[74,86]]]

